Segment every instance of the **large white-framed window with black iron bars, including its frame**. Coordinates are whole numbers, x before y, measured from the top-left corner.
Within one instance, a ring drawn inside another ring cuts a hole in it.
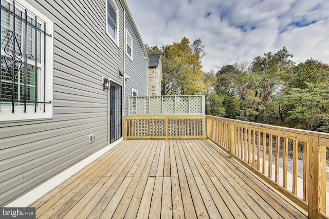
[[[52,117],[53,23],[22,4],[1,3],[0,121]]]

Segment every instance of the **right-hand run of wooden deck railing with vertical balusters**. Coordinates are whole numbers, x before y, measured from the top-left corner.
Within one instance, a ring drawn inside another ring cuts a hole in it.
[[[206,124],[211,141],[308,211],[309,218],[327,217],[329,134],[214,116],[207,116]],[[288,161],[293,164],[291,173]],[[298,172],[298,163],[302,163],[302,173]]]

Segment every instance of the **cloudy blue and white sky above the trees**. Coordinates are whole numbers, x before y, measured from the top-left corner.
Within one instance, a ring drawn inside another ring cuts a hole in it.
[[[282,47],[329,64],[328,0],[126,0],[144,44],[202,40],[204,71]]]

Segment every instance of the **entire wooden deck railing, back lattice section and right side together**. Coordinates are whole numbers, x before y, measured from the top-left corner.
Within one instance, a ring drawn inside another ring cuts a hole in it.
[[[189,115],[125,116],[124,127],[125,139],[208,138],[308,211],[309,218],[328,218],[327,133]]]

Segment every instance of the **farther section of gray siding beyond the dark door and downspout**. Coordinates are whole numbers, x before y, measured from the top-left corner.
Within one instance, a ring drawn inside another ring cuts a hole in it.
[[[148,95],[148,61],[144,59],[144,45],[138,41],[135,31],[126,17],[125,26],[133,37],[133,59],[125,54],[125,73],[130,76],[125,82],[124,104],[127,106],[127,96],[132,95],[132,88],[138,91],[139,96]],[[127,115],[127,109],[124,110]]]

